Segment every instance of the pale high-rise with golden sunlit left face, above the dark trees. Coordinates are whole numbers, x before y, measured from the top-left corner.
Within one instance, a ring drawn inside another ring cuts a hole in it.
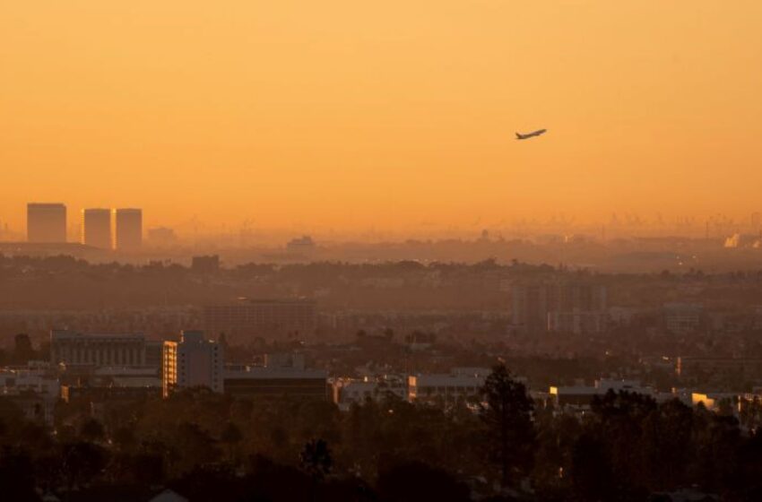
[[[162,361],[164,397],[176,388],[207,387],[224,390],[222,344],[204,338],[203,331],[183,331],[180,342],[164,342]]]

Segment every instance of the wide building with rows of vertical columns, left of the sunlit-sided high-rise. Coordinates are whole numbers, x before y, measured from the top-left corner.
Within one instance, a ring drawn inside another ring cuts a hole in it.
[[[52,330],[50,362],[66,366],[146,366],[145,336]]]

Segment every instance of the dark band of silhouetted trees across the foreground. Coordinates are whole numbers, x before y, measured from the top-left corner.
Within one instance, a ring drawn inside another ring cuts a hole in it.
[[[0,398],[0,487],[19,502],[668,500],[696,487],[762,499],[762,436],[732,414],[640,394],[593,398],[582,417],[537,405],[504,365],[478,402],[393,395],[354,404],[234,400],[59,403],[52,429]]]

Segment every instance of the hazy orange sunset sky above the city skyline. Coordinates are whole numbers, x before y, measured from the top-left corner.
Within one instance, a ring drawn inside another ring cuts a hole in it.
[[[4,1],[0,221],[757,211],[760,27],[759,0]]]

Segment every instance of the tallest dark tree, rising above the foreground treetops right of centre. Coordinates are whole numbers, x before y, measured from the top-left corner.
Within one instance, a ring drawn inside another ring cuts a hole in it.
[[[481,420],[489,439],[489,457],[498,464],[503,486],[525,472],[533,458],[534,402],[526,387],[500,363],[481,388]]]

